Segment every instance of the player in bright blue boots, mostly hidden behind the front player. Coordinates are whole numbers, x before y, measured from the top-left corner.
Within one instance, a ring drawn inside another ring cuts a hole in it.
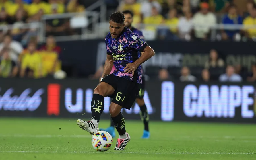
[[[125,10],[125,11],[123,11],[123,14],[125,16],[125,27],[129,28],[131,31],[138,34],[138,36],[141,38],[141,40],[143,40],[145,42],[142,32],[140,30],[138,30],[137,28],[134,28],[132,26],[133,13],[129,10]],[[143,52],[142,52],[142,54],[143,54]],[[115,67],[113,66],[111,72],[113,72],[114,70],[115,70]],[[144,99],[143,99],[144,91],[145,91],[145,78],[144,78],[143,67],[141,67],[141,73],[142,73],[142,85],[141,85],[141,89],[139,91],[139,94],[136,98],[136,102],[140,107],[140,110],[141,110],[140,111],[140,116],[141,116],[141,120],[144,123],[144,131],[143,131],[143,135],[142,135],[141,138],[148,139],[149,136],[150,136],[149,128],[148,128],[149,114],[148,114],[147,107],[146,107]],[[115,126],[115,124],[114,124],[113,120],[111,119],[110,120],[110,127],[106,128],[106,129],[100,128],[100,130],[107,131],[114,138],[115,137],[115,128],[114,128],[114,126]]]

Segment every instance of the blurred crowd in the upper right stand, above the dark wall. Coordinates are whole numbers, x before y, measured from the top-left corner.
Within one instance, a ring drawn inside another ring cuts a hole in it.
[[[134,12],[135,26],[170,40],[209,40],[210,25],[254,25],[256,18],[253,0],[122,0],[117,10],[125,9]],[[218,40],[236,41],[252,40],[256,35],[255,29],[218,29],[217,33]]]

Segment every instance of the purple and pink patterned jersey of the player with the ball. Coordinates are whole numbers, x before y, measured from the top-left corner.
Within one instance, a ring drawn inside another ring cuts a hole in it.
[[[126,64],[135,62],[140,58],[141,52],[146,48],[147,44],[128,28],[124,28],[123,32],[117,38],[112,38],[110,32],[105,38],[107,54],[113,56],[115,76],[119,76],[135,83],[142,84],[141,65],[137,67],[134,75],[132,73],[124,73]]]

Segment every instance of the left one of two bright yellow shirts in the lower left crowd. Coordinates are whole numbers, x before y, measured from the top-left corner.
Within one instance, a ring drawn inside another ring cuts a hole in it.
[[[42,57],[39,52],[24,53],[21,59],[21,69],[29,68],[34,71],[34,78],[39,78],[42,69]]]

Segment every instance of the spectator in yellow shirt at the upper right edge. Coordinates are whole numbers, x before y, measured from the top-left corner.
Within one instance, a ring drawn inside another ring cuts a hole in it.
[[[256,21],[256,4],[253,5],[253,9],[250,11],[250,16],[245,18],[243,20],[244,26],[252,26],[255,25]],[[256,36],[256,29],[255,28],[250,28],[250,29],[245,29],[245,36],[253,39]]]

